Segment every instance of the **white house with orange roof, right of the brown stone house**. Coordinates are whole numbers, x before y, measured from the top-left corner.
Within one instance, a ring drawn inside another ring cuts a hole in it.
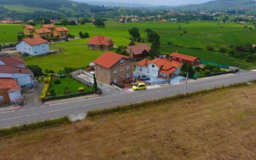
[[[150,80],[163,78],[170,80],[180,74],[182,64],[170,62],[165,59],[142,60],[136,63],[136,73],[150,77]]]

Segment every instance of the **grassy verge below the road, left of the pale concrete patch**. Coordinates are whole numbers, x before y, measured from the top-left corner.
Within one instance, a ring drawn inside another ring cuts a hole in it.
[[[30,124],[23,124],[20,126],[14,126],[10,128],[4,128],[0,129],[0,136],[8,136],[12,134],[17,134],[20,132],[25,132],[28,130],[35,130],[38,128],[44,128],[44,127],[56,127],[59,126],[60,124],[68,124],[71,123],[68,117],[61,117],[61,118],[56,118],[53,120],[44,120],[41,122],[34,122]]]

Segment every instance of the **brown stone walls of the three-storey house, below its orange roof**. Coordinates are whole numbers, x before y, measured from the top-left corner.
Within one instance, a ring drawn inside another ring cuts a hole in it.
[[[119,83],[133,77],[133,61],[122,58],[109,69],[96,64],[95,73],[96,79],[100,82],[105,84]]]

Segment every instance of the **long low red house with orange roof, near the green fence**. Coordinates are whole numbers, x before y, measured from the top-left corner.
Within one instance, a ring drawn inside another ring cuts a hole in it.
[[[180,54],[180,53],[172,53],[170,54],[170,61],[178,62],[178,63],[187,63],[191,64],[192,66],[197,66],[199,65],[200,58],[193,57],[193,56],[188,56],[185,54]]]

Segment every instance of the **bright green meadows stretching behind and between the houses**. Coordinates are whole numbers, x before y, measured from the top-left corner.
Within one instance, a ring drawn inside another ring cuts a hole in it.
[[[181,29],[178,30],[178,25]],[[22,31],[21,25],[0,25],[0,29],[6,28],[8,30],[8,41],[15,41],[15,32]],[[15,28],[14,28],[15,26]],[[20,27],[20,28],[18,28]],[[36,26],[38,28],[39,26]],[[115,46],[127,46],[130,40],[128,30],[132,27],[137,27],[141,36],[146,40],[146,28],[158,32],[161,39],[160,52],[170,53],[177,51],[180,53],[197,56],[202,60],[218,62],[222,64],[229,64],[238,66],[244,69],[256,68],[256,64],[238,60],[235,58],[226,57],[219,52],[206,51],[206,46],[212,45],[218,50],[220,46],[228,48],[229,46],[236,46],[244,43],[256,43],[256,29],[251,31],[244,30],[243,25],[240,24],[218,24],[217,22],[190,22],[188,24],[176,23],[160,23],[160,22],[143,22],[143,23],[116,23],[107,22],[106,28],[96,28],[92,24],[80,26],[67,26],[71,34],[78,36],[78,32],[88,32],[90,36],[104,35],[111,37]],[[186,30],[186,34],[180,34]],[[2,30],[0,31],[2,32]],[[11,34],[12,33],[12,34]],[[90,38],[74,40],[70,42],[52,44],[52,49],[62,48],[63,52],[55,55],[48,55],[44,57],[26,57],[24,58],[28,64],[38,64],[43,69],[53,69],[58,71],[63,67],[83,67],[88,65],[92,60],[103,54],[105,51],[88,50],[86,42]],[[5,38],[0,33],[0,41]],[[168,45],[172,42],[174,45],[183,46],[177,47]],[[191,49],[190,47],[202,48],[204,50]]]

